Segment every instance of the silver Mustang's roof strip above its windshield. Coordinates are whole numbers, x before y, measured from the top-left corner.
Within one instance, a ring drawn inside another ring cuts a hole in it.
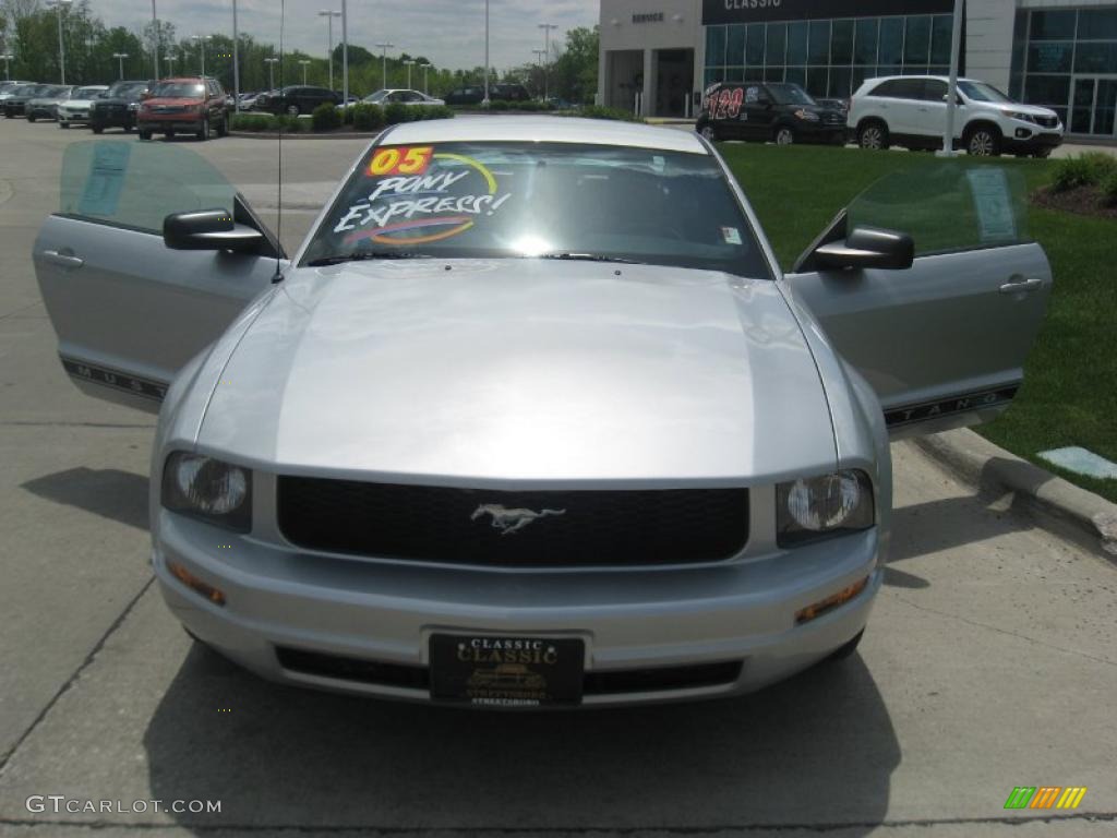
[[[693,131],[569,116],[458,116],[452,120],[408,122],[392,128],[385,139],[392,145],[478,141],[553,142],[628,145],[689,154],[709,153]]]

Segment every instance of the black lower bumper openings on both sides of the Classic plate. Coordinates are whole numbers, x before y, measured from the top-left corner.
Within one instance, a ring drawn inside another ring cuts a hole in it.
[[[424,666],[382,664],[375,660],[326,655],[283,646],[276,647],[276,657],[284,669],[293,673],[374,686],[407,689],[430,688],[430,672]],[[736,682],[741,677],[741,669],[742,661],[727,660],[690,666],[591,672],[583,676],[582,693],[583,695],[623,695],[626,693],[658,693],[670,689],[723,686]]]

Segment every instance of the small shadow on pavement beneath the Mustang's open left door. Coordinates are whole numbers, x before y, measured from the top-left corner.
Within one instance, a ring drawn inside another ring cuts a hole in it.
[[[69,468],[21,484],[32,495],[147,528],[147,478],[115,468]]]

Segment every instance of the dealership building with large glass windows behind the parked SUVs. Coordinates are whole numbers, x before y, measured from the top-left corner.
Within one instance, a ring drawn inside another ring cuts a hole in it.
[[[866,78],[949,70],[954,0],[601,0],[599,99],[690,116],[714,82],[795,82],[847,98]],[[1117,2],[966,0],[962,72],[1117,140]]]

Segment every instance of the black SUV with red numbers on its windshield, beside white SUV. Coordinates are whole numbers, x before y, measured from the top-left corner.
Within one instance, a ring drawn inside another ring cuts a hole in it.
[[[706,88],[695,130],[707,140],[846,143],[846,114],[791,82],[719,82]]]

